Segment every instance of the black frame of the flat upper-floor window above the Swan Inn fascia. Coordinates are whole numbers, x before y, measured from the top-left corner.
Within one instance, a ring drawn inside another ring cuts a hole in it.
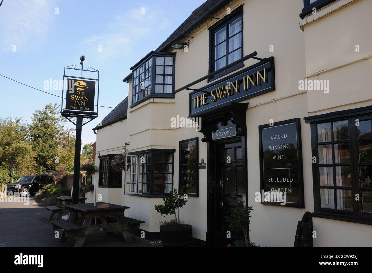
[[[234,22],[236,19],[238,19],[239,17],[241,17],[241,31],[232,35],[231,37],[229,37],[229,33],[228,33],[228,25],[232,22]],[[208,73],[212,73],[215,71],[215,47],[217,47],[218,45],[215,45],[215,33],[218,32],[219,30],[221,30],[222,28],[226,27],[226,53],[225,53],[225,57],[226,57],[226,66],[229,64],[228,63],[228,54],[231,54],[232,52],[238,50],[239,48],[241,48],[241,57],[242,58],[244,56],[244,31],[243,31],[243,28],[244,28],[244,22],[243,22],[243,6],[240,6],[238,7],[237,9],[235,9],[233,12],[231,12],[230,15],[226,15],[222,20],[220,20],[218,23],[216,23],[215,25],[213,25],[210,29],[209,29],[209,71]],[[241,33],[241,47],[238,47],[237,49],[231,51],[230,53],[228,52],[229,51],[229,46],[228,46],[228,40],[230,38],[232,38],[233,36],[235,35],[238,35],[239,33]],[[224,42],[224,41],[223,41]],[[220,43],[222,44],[222,42]],[[223,58],[223,56],[221,57]],[[238,59],[240,59],[238,58]],[[220,59],[220,58],[218,58]],[[208,79],[208,82],[212,82],[213,80],[215,79],[218,79],[220,77],[223,77],[225,76],[226,74],[228,73],[231,73],[237,69],[240,69],[241,67],[244,67],[244,63],[241,62],[239,64],[236,64],[235,66],[233,67],[230,67],[228,68],[227,70],[224,70],[212,77],[210,77]],[[223,67],[221,67],[223,68]]]

